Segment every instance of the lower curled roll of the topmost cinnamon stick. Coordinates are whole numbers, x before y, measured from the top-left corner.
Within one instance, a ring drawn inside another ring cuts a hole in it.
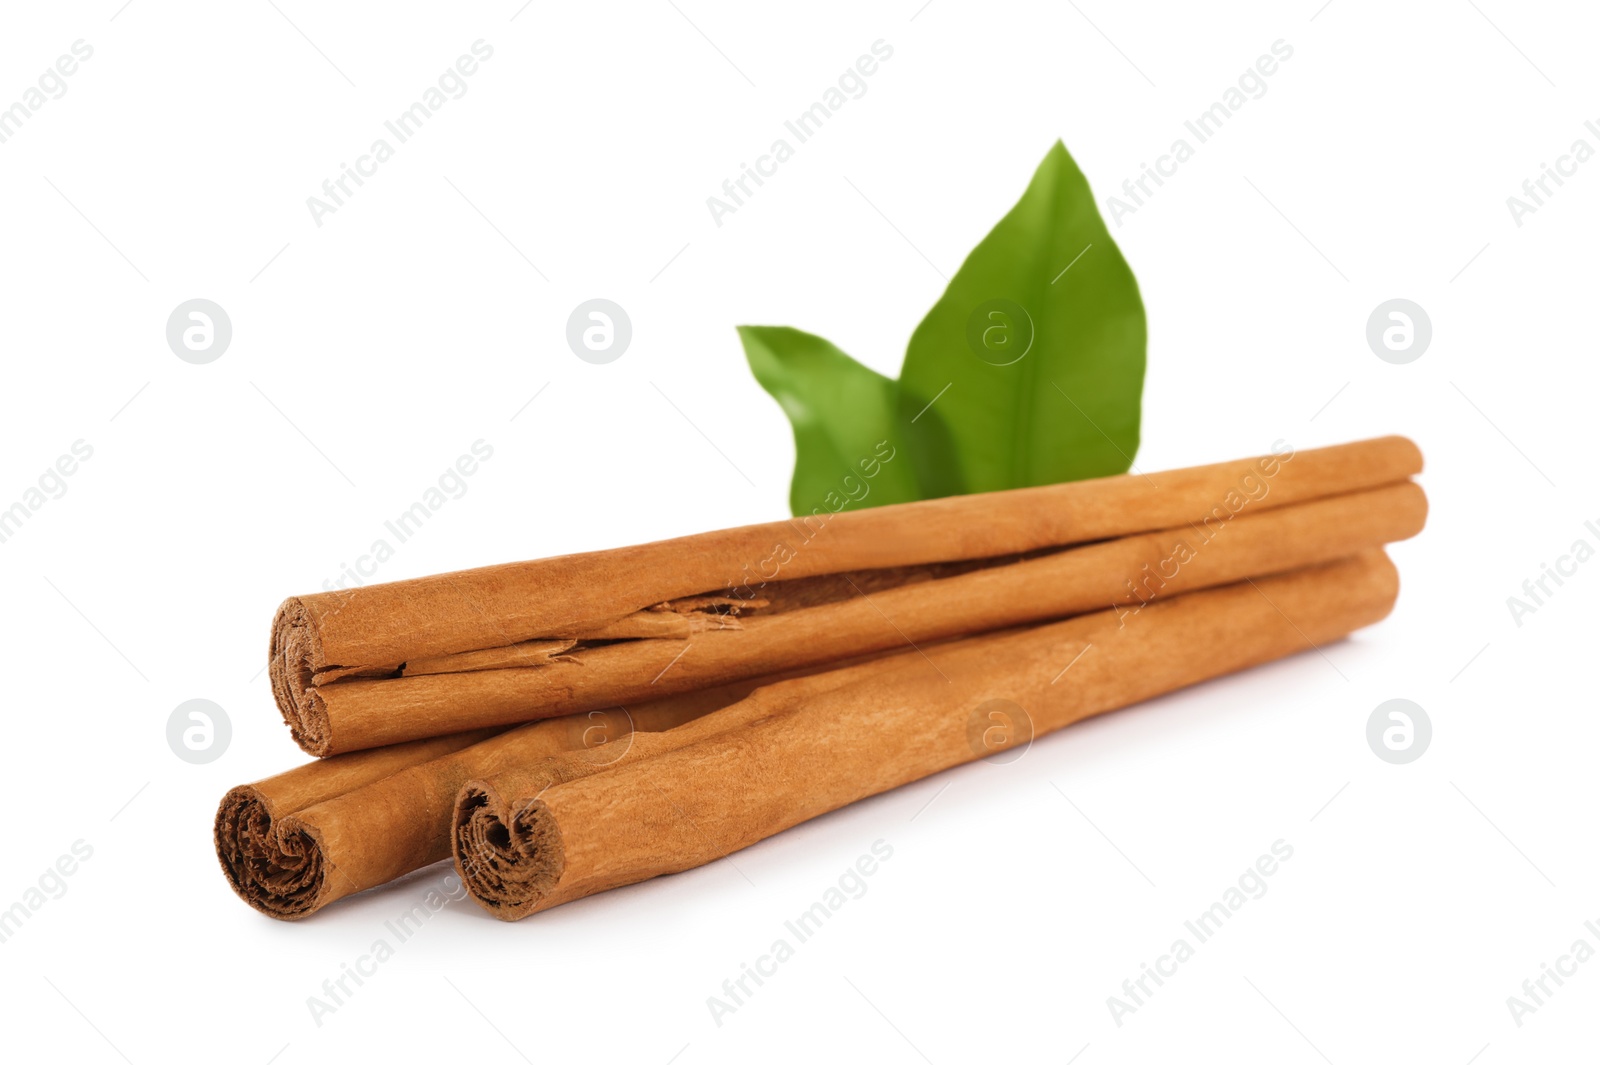
[[[1307,462],[1315,454],[1299,454],[1293,462]],[[1382,475],[1390,469],[1382,467]],[[1277,477],[1288,472],[1290,465],[1280,462]],[[1341,475],[1334,483],[1344,480]],[[296,737],[314,753],[358,750],[627,704],[1112,604],[1136,609],[1157,595],[1328,561],[1406,539],[1422,528],[1427,513],[1422,489],[1410,481],[1309,502],[1285,504],[1282,496],[1286,493],[1272,485],[1258,502],[1224,510],[1224,518],[1194,510],[1194,518],[1178,528],[1042,555],[958,558],[968,564],[954,568],[923,561],[778,580],[762,590],[765,598],[755,609],[722,617],[683,638],[554,644],[558,651],[538,665],[514,659],[486,662],[485,656],[493,652],[474,651],[432,659],[421,673],[408,664],[402,676],[314,684],[306,692],[309,702],[293,718]],[[1272,507],[1259,507],[1269,501]],[[1149,497],[1144,502],[1155,505]],[[918,505],[885,510],[909,512]],[[1253,505],[1258,509],[1251,510]],[[1157,509],[1166,515],[1165,505]],[[846,517],[856,515],[840,515],[838,521]],[[1003,517],[1000,521],[1005,528]],[[1133,513],[1125,517],[1128,525],[1136,521]],[[832,526],[827,536],[837,528],[842,526]],[[1096,526],[1102,528],[1104,523]],[[998,542],[1014,547],[1030,540],[1006,534]],[[918,553],[912,556],[922,560]],[[515,652],[517,646],[502,651]],[[456,665],[450,665],[453,659]]]

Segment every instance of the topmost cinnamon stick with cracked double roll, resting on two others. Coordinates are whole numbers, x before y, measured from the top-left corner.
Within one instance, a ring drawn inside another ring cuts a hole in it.
[[[1384,437],[299,596],[272,688],[317,755],[693,691],[1403,539],[1421,465]]]

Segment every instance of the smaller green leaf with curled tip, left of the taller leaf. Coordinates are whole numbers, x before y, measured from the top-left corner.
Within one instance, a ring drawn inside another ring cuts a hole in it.
[[[795,430],[795,515],[922,499],[896,424],[899,389],[819,336],[739,326],[755,379]]]

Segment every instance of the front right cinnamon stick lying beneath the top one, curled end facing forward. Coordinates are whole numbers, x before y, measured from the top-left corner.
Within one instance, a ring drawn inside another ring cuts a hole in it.
[[[928,660],[899,654],[813,697],[768,686],[642,737],[654,755],[602,776],[538,793],[528,768],[469,782],[456,801],[456,868],[504,919],[693,868],[982,756],[973,728],[994,700],[1018,707],[1030,734],[1050,732],[1338,640],[1382,619],[1397,588],[1389,558],[1371,550],[1179,595],[1131,622],[1112,609],[952,641]]]

